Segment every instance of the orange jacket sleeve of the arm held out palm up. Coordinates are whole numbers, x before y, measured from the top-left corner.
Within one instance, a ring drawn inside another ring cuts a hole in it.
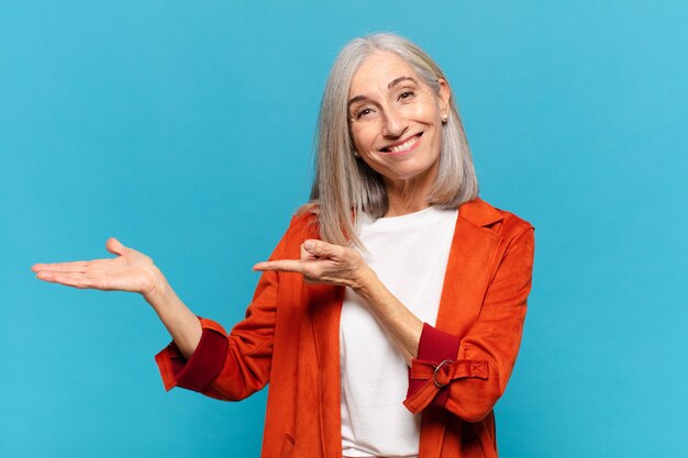
[[[271,259],[284,256],[289,231]],[[201,339],[189,359],[174,340],[155,356],[165,389],[198,391],[224,401],[238,401],[263,389],[269,379],[279,273],[263,272],[246,316],[226,333],[212,320],[199,317]]]

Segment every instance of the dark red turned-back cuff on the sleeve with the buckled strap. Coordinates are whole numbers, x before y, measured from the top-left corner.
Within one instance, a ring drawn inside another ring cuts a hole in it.
[[[418,344],[417,359],[430,361],[434,365],[440,365],[444,360],[454,361],[458,355],[459,345],[460,338],[457,336],[440,331],[428,323],[423,323],[421,339]],[[412,379],[411,370],[409,369],[409,390],[407,399],[419,391],[424,383],[424,380]],[[430,405],[443,407],[446,404],[448,394],[448,386],[442,387],[431,401]]]

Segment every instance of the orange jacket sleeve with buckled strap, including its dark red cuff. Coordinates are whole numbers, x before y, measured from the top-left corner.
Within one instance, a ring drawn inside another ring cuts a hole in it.
[[[418,356],[411,361],[404,405],[413,413],[444,407],[479,422],[502,395],[519,346],[534,255],[528,225],[511,238],[485,294],[479,316],[465,336],[424,324]]]

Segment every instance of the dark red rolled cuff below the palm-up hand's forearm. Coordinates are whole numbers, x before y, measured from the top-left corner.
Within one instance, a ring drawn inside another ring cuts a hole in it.
[[[203,391],[222,370],[228,353],[226,335],[221,332],[220,326],[206,327],[203,322],[201,319],[201,339],[188,360],[174,340],[155,355],[165,390],[180,387]]]

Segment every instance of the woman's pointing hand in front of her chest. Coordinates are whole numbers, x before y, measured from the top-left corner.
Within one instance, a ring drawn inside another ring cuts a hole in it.
[[[254,270],[298,272],[314,283],[342,284],[354,290],[362,287],[373,270],[353,248],[308,239],[301,244],[300,259],[280,259],[258,262]]]

